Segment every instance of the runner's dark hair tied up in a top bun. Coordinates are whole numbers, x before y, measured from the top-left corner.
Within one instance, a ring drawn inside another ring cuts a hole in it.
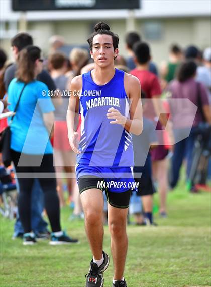
[[[118,48],[119,37],[117,34],[114,34],[112,31],[110,31],[110,27],[108,24],[106,24],[104,22],[99,22],[94,26],[94,31],[95,32],[92,33],[87,40],[87,42],[89,43],[89,49],[90,50],[92,50],[93,38],[94,38],[94,36],[96,36],[98,34],[100,34],[100,35],[105,34],[105,35],[112,36],[114,50]]]

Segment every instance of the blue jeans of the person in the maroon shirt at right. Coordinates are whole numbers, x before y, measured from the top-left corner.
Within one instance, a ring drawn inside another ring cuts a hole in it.
[[[188,179],[192,164],[192,152],[194,147],[195,141],[195,129],[193,127],[190,131],[189,137],[179,141],[174,145],[174,152],[171,158],[171,167],[170,167],[170,177],[169,177],[169,184],[172,188],[177,185],[179,180],[179,171],[183,162],[183,159],[186,158],[187,160],[187,169],[186,169],[186,178]],[[179,135],[183,133],[184,130],[174,130],[175,139]]]

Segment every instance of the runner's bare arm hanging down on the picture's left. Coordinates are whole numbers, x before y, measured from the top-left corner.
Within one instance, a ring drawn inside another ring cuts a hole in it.
[[[82,76],[74,77],[70,84],[71,96],[69,98],[69,106],[67,110],[67,129],[68,138],[72,150],[75,153],[80,153],[77,148],[78,133],[76,132],[78,125],[78,111],[79,111],[79,94],[82,90]]]

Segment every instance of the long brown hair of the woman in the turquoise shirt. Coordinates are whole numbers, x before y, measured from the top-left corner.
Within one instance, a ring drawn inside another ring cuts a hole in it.
[[[18,56],[16,77],[19,81],[29,83],[35,78],[35,61],[40,58],[41,49],[36,46],[27,46]]]

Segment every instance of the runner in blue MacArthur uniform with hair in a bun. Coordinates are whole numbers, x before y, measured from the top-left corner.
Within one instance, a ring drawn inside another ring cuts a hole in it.
[[[94,69],[73,78],[67,111],[70,146],[77,153],[76,176],[85,214],[85,229],[93,259],[86,287],[102,287],[109,256],[102,250],[103,194],[109,202],[109,229],[114,262],[113,286],[126,287],[123,277],[128,238],[126,223],[134,183],[132,135],[142,132],[139,80],[115,69],[119,38],[101,22],[89,37]],[[75,95],[75,96],[74,96]],[[75,113],[81,114],[77,148]]]

